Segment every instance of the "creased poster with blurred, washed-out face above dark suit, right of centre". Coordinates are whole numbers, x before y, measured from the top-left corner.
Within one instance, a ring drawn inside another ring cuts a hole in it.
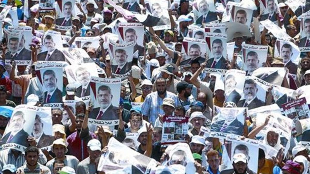
[[[247,108],[218,108],[211,123],[210,137],[225,138],[228,134],[242,135]]]

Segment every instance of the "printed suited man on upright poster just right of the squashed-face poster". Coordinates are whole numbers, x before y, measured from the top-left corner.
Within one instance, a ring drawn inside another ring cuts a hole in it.
[[[223,51],[224,51],[223,41],[220,39],[215,39],[212,42],[211,50],[212,50],[214,58],[207,60],[207,67],[217,68],[217,69],[227,69],[226,60],[223,56]]]

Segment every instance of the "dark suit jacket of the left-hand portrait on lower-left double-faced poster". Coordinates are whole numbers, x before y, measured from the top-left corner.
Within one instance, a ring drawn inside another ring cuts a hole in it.
[[[7,139],[10,137],[10,135],[11,135],[11,132],[7,133],[4,137],[2,137],[1,145],[7,143]],[[22,129],[18,133],[16,133],[14,137],[11,139],[11,141],[8,143],[16,143],[21,146],[28,147],[29,146],[28,141],[27,141],[28,136],[29,134],[25,132],[24,129]]]

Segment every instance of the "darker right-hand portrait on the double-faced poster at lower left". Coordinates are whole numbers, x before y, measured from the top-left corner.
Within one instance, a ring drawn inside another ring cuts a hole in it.
[[[32,135],[33,135],[33,137],[36,138],[36,141],[38,143],[37,144],[38,148],[49,146],[55,140],[53,136],[46,135],[43,132],[43,126],[44,126],[44,124],[41,121],[41,117],[39,115],[36,115],[36,118],[35,118],[34,124],[33,124]]]

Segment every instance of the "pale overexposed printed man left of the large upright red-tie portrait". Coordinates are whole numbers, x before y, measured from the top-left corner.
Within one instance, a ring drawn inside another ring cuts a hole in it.
[[[90,85],[91,73],[87,71],[86,67],[78,67],[75,71],[78,82],[81,84],[76,90],[76,96],[85,97],[90,95]]]

